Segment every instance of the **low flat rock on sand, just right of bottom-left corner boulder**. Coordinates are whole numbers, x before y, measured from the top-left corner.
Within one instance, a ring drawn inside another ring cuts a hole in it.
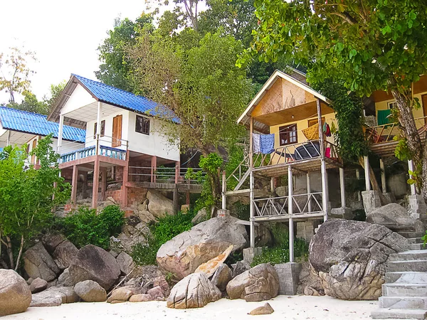
[[[73,287],[51,287],[33,294],[30,306],[59,306],[80,301]]]

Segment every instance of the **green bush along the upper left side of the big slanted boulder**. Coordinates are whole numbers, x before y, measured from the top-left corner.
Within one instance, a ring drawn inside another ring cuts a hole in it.
[[[195,212],[177,213],[176,215],[167,215],[160,218],[156,225],[150,228],[151,235],[147,239],[147,245],[138,243],[132,247],[132,258],[137,265],[155,265],[156,256],[159,248],[167,241],[174,238],[184,231],[193,227],[191,219],[194,218]]]

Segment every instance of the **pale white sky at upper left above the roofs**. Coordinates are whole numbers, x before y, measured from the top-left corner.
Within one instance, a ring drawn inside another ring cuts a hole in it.
[[[41,100],[51,84],[68,80],[71,73],[96,80],[97,47],[113,28],[115,18],[134,20],[145,8],[145,0],[3,1],[0,53],[11,46],[36,53],[31,91]],[[0,103],[8,100],[0,92]]]

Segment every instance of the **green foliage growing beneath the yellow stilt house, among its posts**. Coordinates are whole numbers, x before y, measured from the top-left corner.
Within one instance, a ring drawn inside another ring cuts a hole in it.
[[[273,235],[274,245],[263,248],[263,252],[253,258],[251,267],[261,263],[271,263],[272,265],[289,262],[289,233],[284,225],[276,223],[270,228]],[[294,240],[294,256],[296,259],[308,255],[308,243],[297,238]]]

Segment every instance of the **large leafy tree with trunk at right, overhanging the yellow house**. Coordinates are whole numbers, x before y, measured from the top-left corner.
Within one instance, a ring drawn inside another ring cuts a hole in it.
[[[401,135],[427,199],[427,147],[413,119],[411,84],[427,71],[427,4],[423,0],[257,0],[258,28],[246,59],[285,55],[308,67],[308,80],[343,80],[347,90],[391,92]],[[243,57],[238,61],[238,64]]]

